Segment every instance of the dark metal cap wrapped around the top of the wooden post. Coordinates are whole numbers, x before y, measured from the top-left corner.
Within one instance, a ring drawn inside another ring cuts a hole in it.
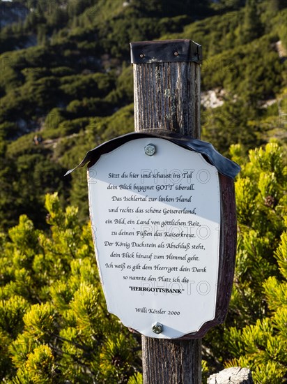
[[[130,43],[132,64],[194,61],[201,64],[202,47],[188,38]]]

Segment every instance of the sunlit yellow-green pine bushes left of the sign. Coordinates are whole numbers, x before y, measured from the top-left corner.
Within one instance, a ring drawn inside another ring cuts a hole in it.
[[[138,342],[107,313],[91,228],[45,204],[49,233],[26,217],[2,238],[0,376],[9,383],[126,383]],[[136,380],[132,378],[131,380]]]

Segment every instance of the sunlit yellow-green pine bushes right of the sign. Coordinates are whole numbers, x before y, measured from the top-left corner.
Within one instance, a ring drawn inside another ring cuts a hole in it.
[[[240,150],[234,146],[233,156]],[[233,358],[254,381],[287,379],[286,166],[276,142],[249,152],[235,184],[239,221],[237,268],[231,300],[236,326],[224,333]],[[245,324],[245,327],[242,325]]]

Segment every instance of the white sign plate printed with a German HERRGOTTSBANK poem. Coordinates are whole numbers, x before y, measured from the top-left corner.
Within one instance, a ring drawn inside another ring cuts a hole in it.
[[[148,337],[215,318],[219,177],[199,153],[139,138],[88,169],[95,251],[109,312]]]

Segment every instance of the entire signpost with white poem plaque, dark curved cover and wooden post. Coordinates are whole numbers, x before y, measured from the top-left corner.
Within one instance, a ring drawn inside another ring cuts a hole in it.
[[[201,47],[131,48],[135,132],[76,168],[88,163],[107,309],[143,335],[143,382],[199,384],[201,337],[223,323],[231,297],[240,167],[199,140]]]

